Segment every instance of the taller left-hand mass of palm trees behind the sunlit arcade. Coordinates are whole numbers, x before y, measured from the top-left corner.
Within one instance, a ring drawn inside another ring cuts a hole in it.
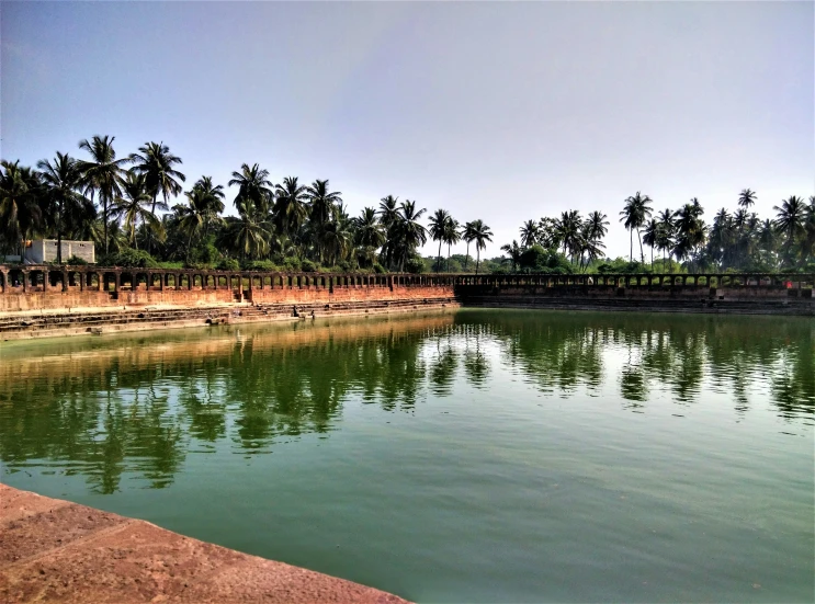
[[[328,180],[302,183],[286,176],[280,183],[258,163],[233,172],[228,186],[238,192],[237,216],[224,216],[222,184],[203,175],[184,190],[181,158],[163,143],[149,141],[125,157],[115,137],[81,140],[86,158],[57,152],[36,168],[19,161],[0,163],[0,250],[18,251],[25,241],[53,238],[61,263],[61,240],[92,240],[100,263],[182,262],[283,270],[374,270],[420,272],[417,250],[428,238],[448,247],[473,243],[478,271],[480,251],[493,232],[483,220],[460,224],[439,209],[429,226],[427,208],[387,195],[378,207],[350,216],[342,193]],[[181,200],[170,207],[170,201]],[[163,214],[159,214],[163,212]],[[465,266],[466,269],[466,266]]]

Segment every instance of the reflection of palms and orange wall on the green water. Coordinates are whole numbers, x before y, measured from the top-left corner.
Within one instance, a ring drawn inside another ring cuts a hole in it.
[[[8,471],[48,460],[102,493],[125,472],[163,488],[191,451],[265,453],[338,429],[351,400],[412,413],[428,396],[488,392],[513,375],[545,396],[602,394],[641,413],[657,391],[686,406],[712,390],[738,414],[769,399],[812,423],[814,330],[806,319],[461,311],[4,345],[0,459]]]

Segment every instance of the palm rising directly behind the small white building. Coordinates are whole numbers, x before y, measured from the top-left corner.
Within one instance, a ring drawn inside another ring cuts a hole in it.
[[[68,224],[88,223],[97,217],[93,203],[80,193],[82,172],[79,163],[68,153],[57,151],[54,162],[39,160],[47,196],[55,209],[53,216],[57,230],[57,263],[63,263],[63,233]]]

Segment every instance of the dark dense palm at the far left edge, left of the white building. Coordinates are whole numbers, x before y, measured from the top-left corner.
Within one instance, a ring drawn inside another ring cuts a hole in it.
[[[19,161],[0,162],[0,223],[5,232],[0,235],[7,243],[25,254],[25,239],[45,225],[42,207],[42,182],[39,174],[31,168],[20,166]]]

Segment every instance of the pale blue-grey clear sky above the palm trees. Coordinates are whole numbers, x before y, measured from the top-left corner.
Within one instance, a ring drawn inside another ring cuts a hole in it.
[[[745,187],[767,217],[815,194],[814,32],[813,2],[3,0],[0,156],[163,141],[188,184],[257,162],[352,215],[390,194],[480,218],[487,257],[599,209],[627,255],[637,191],[708,220]]]

